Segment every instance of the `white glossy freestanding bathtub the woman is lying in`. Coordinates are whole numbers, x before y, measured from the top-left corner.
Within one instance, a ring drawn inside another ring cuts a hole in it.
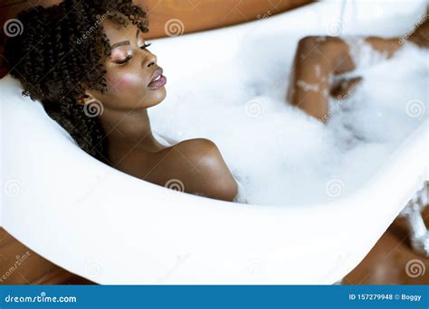
[[[347,33],[405,33],[424,7],[390,4],[382,14],[357,14],[343,24]],[[345,14],[361,5],[353,2]],[[249,33],[284,28],[296,39],[326,33],[339,11],[335,3],[309,5],[263,22],[158,40],[155,52],[163,67],[175,68],[168,70],[171,83],[181,78],[175,71],[193,74],[216,63],[194,61],[189,69],[186,59],[216,52],[227,61]],[[402,28],[393,29],[401,19]],[[229,48],[215,50],[217,44]],[[0,89],[0,225],[41,256],[100,284],[333,284],[428,179],[426,120],[360,190],[336,201],[274,207],[173,194],[86,155],[39,104],[21,97],[16,80],[6,77]]]

